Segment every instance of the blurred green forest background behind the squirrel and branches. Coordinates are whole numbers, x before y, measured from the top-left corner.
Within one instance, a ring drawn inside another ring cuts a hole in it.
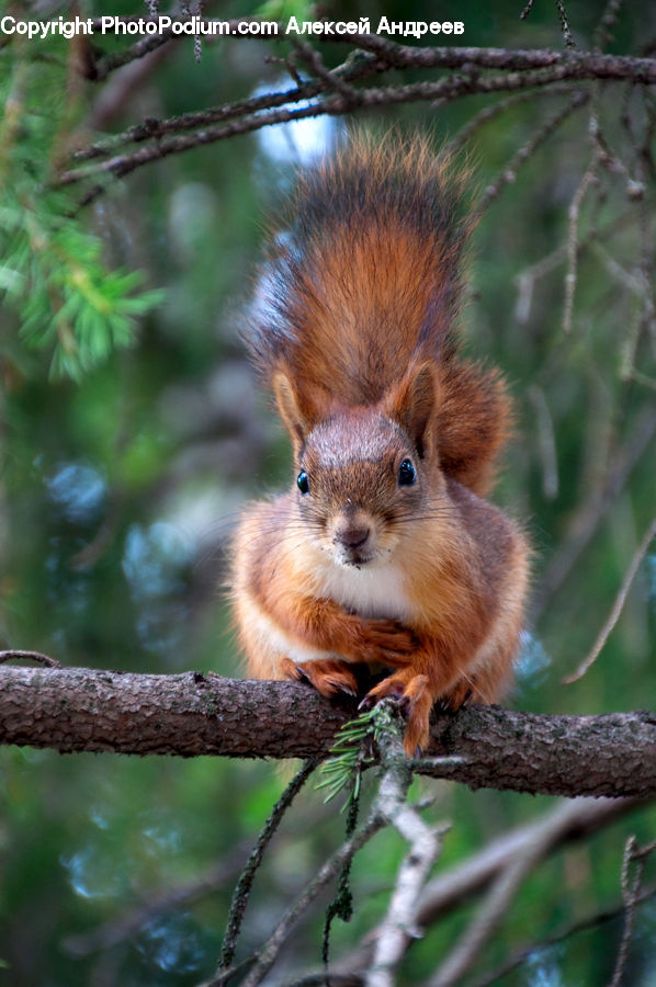
[[[536,4],[523,23],[520,7],[512,0],[459,4],[463,42],[559,47],[555,7]],[[97,0],[86,13],[136,10],[127,0]],[[583,47],[602,10],[593,0],[573,5]],[[222,4],[220,15],[250,12],[234,0]],[[331,16],[369,15],[372,25],[383,13],[391,20],[436,16],[423,0],[330,5]],[[637,50],[656,31],[654,20],[654,11],[627,10],[611,50]],[[123,42],[105,44],[121,48]],[[283,42],[222,39],[205,44],[195,64],[192,42],[181,42],[116,107],[106,129],[275,88],[284,78],[281,66],[264,56],[286,52]],[[0,144],[0,635],[4,646],[39,649],[71,666],[235,676],[239,657],[219,592],[227,537],[244,500],[286,484],[290,463],[287,442],[245,362],[239,311],[252,287],[265,218],[291,186],[304,141],[341,139],[346,123],[269,128],[169,157],[70,217],[71,200],[46,193],[43,183],[73,136],[82,144],[92,139],[84,121],[102,87],[72,84],[68,53],[60,41],[0,47],[1,133],[11,132]],[[340,56],[336,46],[325,52],[329,65]],[[23,102],[14,125],[8,97],[15,99],[16,77]],[[623,148],[618,91],[611,87],[600,99],[608,133]],[[552,98],[541,99],[477,132],[468,150],[480,189],[553,112]],[[480,98],[418,104],[378,111],[365,122],[385,128],[399,120],[431,131],[439,145],[484,104]],[[585,114],[563,125],[484,216],[464,319],[468,350],[499,364],[517,397],[517,441],[497,499],[524,519],[536,591],[553,558],[574,552],[654,408],[654,392],[622,374],[635,295],[603,258],[581,251],[569,338],[561,329],[565,253],[533,280],[530,293],[527,287],[532,265],[566,240],[567,208],[590,157]],[[606,230],[604,249],[634,272],[643,213],[640,202],[627,201],[625,186],[615,175],[603,194],[593,190],[580,227]],[[653,214],[653,188],[648,194]],[[134,272],[144,272],[136,295]],[[50,376],[53,358],[68,378]],[[654,377],[648,338],[635,361]],[[651,520],[654,466],[652,441],[544,601],[519,669],[518,707],[599,713],[654,705],[654,549],[597,665],[576,685],[561,684],[591,646]],[[207,976],[235,870],[282,784],[271,764],[0,751],[0,957],[7,964],[0,983],[191,985]],[[415,792],[433,797],[429,815],[453,822],[441,869],[553,804],[426,781],[416,782]],[[542,865],[479,972],[615,904],[626,833],[647,841],[655,828],[656,813],[645,809]],[[325,807],[309,785],[257,878],[240,955],[259,945],[342,832],[337,807]],[[333,926],[333,955],[381,916],[403,852],[399,838],[383,832],[358,855],[355,916],[348,927]],[[154,907],[220,865],[224,880],[211,893]],[[140,908],[140,920],[121,935],[122,923]],[[466,906],[429,930],[409,954],[401,982],[428,977],[471,916]],[[627,983],[654,982],[654,922],[646,906]],[[282,962],[287,973],[318,965],[321,923],[320,908],[304,919]],[[93,939],[100,928],[106,948]],[[580,933],[533,954],[499,983],[607,983],[620,935],[619,922]]]

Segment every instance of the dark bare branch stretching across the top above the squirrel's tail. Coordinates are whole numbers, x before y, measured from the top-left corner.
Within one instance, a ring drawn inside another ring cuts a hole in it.
[[[333,38],[337,41],[338,38]],[[343,41],[342,38],[340,38]],[[275,92],[235,104],[212,107],[170,121],[149,121],[125,135],[94,144],[76,152],[76,160],[95,158],[109,152],[123,140],[149,141],[131,152],[120,152],[103,161],[63,170],[57,185],[70,185],[100,175],[124,177],[136,168],[216,140],[248,134],[264,126],[305,120],[313,116],[341,115],[354,110],[410,103],[418,101],[451,101],[465,95],[517,92],[541,87],[559,86],[565,81],[630,80],[636,84],[656,83],[656,59],[598,53],[512,50],[507,48],[420,48],[398,45],[376,35],[358,35],[348,39],[357,46],[349,59],[328,71],[319,56],[307,45],[305,60],[316,56],[313,67],[316,79],[297,87],[296,92]],[[412,82],[406,86],[362,86],[349,82],[388,69],[448,69],[451,73],[437,81]],[[489,75],[489,70],[497,75]],[[457,71],[457,73],[455,73]],[[303,93],[303,95],[301,95]],[[299,100],[316,98],[309,105]],[[225,123],[218,123],[225,121]],[[192,129],[199,127],[199,129]],[[180,133],[185,132],[185,133]],[[168,134],[168,136],[162,136]],[[91,197],[101,188],[89,193]],[[90,198],[86,196],[84,203]]]

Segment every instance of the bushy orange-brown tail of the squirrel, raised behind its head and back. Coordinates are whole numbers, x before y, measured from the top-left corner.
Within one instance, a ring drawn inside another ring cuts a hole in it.
[[[359,135],[306,171],[261,274],[249,342],[265,376],[284,371],[315,407],[376,405],[430,363],[441,466],[484,492],[509,402],[496,372],[457,358],[465,178],[427,140],[396,135]]]

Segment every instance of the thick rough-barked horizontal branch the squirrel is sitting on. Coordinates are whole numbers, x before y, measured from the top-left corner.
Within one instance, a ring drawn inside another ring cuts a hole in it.
[[[328,753],[352,703],[292,682],[214,674],[0,669],[0,742],[131,755],[309,758]],[[656,794],[656,713],[540,716],[498,706],[436,715],[421,773],[552,795]]]

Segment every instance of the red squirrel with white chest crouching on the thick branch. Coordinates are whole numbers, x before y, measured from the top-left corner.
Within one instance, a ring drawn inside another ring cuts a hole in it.
[[[528,579],[522,532],[484,499],[510,401],[454,330],[462,185],[422,139],[355,138],[301,178],[250,316],[295,479],[235,537],[248,673],[329,696],[385,666],[361,705],[399,701],[409,756],[437,700],[507,688]]]

